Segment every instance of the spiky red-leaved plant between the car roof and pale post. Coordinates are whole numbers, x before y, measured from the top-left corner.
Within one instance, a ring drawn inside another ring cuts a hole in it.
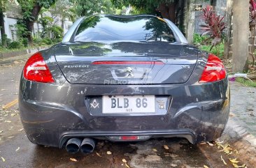
[[[206,38],[205,42],[211,40],[211,49],[216,47],[218,54],[220,54],[218,45],[222,43],[224,30],[226,28],[226,24],[223,22],[224,18],[225,16],[220,17],[220,15],[215,13],[212,6],[206,6],[206,8],[203,9],[203,15],[201,17],[204,21],[204,25],[200,25],[201,30],[204,31],[202,36],[209,36]]]

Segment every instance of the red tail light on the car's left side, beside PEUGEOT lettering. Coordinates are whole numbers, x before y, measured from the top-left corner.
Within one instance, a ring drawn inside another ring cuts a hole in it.
[[[24,66],[23,75],[25,79],[34,82],[55,82],[40,52],[37,52],[29,58]]]

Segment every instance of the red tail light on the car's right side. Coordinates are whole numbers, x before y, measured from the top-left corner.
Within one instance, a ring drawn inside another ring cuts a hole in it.
[[[204,67],[199,83],[215,82],[225,79],[226,70],[222,61],[214,54],[209,54],[208,61]]]

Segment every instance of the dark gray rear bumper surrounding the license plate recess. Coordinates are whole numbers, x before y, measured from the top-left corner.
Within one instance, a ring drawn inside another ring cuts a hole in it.
[[[163,115],[99,116],[85,103],[85,96],[127,93],[171,96],[171,105]],[[222,134],[229,117],[229,87],[227,79],[190,86],[58,86],[22,79],[19,106],[24,130],[34,144],[61,148],[70,137],[121,135],[185,137],[195,144]]]

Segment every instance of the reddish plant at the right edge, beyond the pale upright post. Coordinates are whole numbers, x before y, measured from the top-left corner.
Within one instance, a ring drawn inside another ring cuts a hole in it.
[[[250,26],[250,41],[252,43],[252,47],[250,47],[250,56],[253,58],[253,66],[255,63],[255,35],[256,35],[256,2],[254,0],[250,0],[250,20],[249,20],[249,26]]]

